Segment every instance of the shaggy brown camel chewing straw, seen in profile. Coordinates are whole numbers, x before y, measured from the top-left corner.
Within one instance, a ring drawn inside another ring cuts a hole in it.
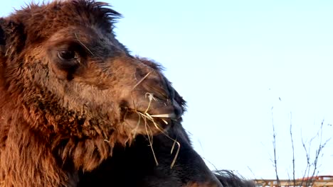
[[[1,185],[222,186],[181,127],[184,100],[156,63],[115,39],[118,17],[73,0],[0,18]],[[162,131],[181,144],[173,169]]]

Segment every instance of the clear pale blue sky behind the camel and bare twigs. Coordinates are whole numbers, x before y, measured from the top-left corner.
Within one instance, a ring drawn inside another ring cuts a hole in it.
[[[298,177],[301,135],[324,120],[323,140],[333,136],[333,1],[109,2],[124,16],[119,40],[162,63],[188,101],[184,126],[211,169],[275,177],[272,107],[281,178],[292,174],[290,113]],[[1,15],[22,4],[1,2]],[[333,141],[323,153],[319,174],[333,174]]]

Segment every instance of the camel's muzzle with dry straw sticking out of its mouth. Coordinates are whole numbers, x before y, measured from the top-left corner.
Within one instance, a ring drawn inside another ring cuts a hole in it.
[[[139,81],[137,85],[147,86],[151,80],[147,79],[146,81]],[[134,135],[164,133],[171,124],[181,120],[183,108],[174,99],[173,94],[167,92],[169,90],[161,86],[155,86],[154,89],[159,90],[151,92],[147,91],[147,88],[141,88],[137,85],[134,86],[137,89],[130,92],[129,96],[125,96],[120,102],[122,119],[127,125],[126,128],[132,129]],[[149,89],[152,89],[152,87],[149,87]]]

